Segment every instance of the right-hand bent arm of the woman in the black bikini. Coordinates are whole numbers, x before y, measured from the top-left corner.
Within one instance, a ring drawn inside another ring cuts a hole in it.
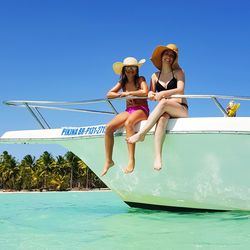
[[[175,72],[175,77],[177,80],[177,88],[164,90],[156,94],[156,99],[161,100],[162,98],[167,98],[171,95],[183,95],[185,87],[185,74],[182,70],[177,70]]]

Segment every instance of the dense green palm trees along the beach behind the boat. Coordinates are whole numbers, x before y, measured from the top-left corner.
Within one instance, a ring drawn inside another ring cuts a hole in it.
[[[62,191],[104,187],[105,184],[72,152],[54,158],[45,151],[37,160],[26,155],[20,163],[7,151],[0,155],[0,189]]]

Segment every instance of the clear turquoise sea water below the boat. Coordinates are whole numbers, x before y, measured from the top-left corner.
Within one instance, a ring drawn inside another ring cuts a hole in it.
[[[250,212],[135,209],[112,192],[2,193],[0,249],[250,249]]]

